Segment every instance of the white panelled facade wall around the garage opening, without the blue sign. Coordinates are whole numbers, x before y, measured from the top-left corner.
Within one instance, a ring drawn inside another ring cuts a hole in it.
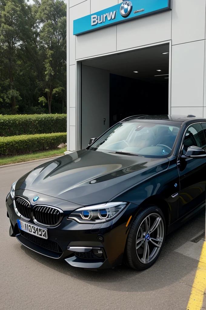
[[[206,0],[173,0],[172,11],[73,36],[73,20],[122,2],[67,0],[69,149],[75,149],[75,61],[171,40],[171,113],[206,117]],[[72,133],[72,134],[71,134]]]

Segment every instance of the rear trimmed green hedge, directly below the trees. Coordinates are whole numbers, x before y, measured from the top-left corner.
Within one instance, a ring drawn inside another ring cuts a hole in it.
[[[0,115],[0,137],[66,132],[66,114]]]

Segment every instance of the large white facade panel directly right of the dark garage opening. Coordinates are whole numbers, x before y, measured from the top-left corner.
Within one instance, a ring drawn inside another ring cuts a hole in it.
[[[204,47],[204,41],[172,46],[172,107],[203,107]]]

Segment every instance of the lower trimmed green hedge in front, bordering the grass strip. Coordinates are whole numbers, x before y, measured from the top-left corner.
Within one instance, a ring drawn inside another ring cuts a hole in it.
[[[0,155],[18,155],[55,149],[61,143],[66,143],[66,133],[0,137]]]

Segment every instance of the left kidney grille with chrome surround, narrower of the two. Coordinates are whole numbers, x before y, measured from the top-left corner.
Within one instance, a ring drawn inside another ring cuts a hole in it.
[[[16,196],[13,200],[14,210],[16,214],[26,221],[31,219],[30,202],[20,196]]]

